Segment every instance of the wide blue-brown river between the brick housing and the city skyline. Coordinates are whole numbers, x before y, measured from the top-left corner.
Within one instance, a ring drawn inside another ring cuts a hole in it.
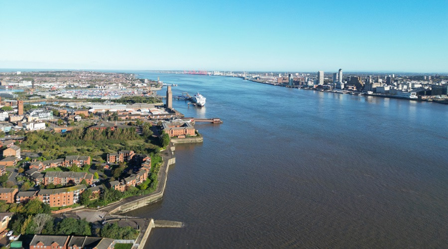
[[[224,121],[196,124],[163,200],[127,213],[186,223],[145,248],[448,247],[448,106],[137,73],[203,94],[173,101],[186,117]]]

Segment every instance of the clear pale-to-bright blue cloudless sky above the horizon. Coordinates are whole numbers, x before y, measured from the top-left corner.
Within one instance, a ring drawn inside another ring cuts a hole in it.
[[[448,0],[0,0],[0,68],[448,72]]]

